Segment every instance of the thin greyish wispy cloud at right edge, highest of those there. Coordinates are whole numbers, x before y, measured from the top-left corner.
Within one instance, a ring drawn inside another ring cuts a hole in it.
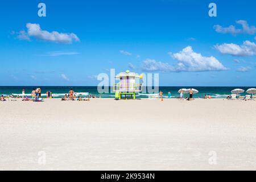
[[[240,24],[242,28],[237,29],[235,26],[230,25],[229,27],[222,27],[219,24],[214,25],[213,28],[216,32],[221,34],[250,34],[253,35],[256,33],[256,27],[255,26],[249,26],[249,24],[246,22],[246,20],[238,20],[236,21],[237,24]]]

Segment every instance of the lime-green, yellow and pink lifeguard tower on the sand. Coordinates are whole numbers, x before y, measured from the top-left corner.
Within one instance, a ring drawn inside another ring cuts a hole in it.
[[[126,72],[119,73],[115,76],[116,79],[119,79],[119,82],[114,84],[113,91],[115,92],[115,99],[122,99],[124,95],[125,98],[130,96],[130,98],[135,99],[136,93],[141,92],[141,79],[143,75],[138,75],[137,73]]]

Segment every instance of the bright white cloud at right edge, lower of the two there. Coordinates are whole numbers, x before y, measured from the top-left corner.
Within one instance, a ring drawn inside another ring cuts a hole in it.
[[[218,51],[225,55],[232,55],[232,56],[253,56],[256,55],[256,44],[254,42],[250,42],[246,40],[243,44],[221,44],[214,46]]]

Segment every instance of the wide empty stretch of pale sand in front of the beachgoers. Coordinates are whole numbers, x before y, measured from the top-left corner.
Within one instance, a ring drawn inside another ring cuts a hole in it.
[[[256,101],[6,101],[0,115],[2,170],[256,169]]]

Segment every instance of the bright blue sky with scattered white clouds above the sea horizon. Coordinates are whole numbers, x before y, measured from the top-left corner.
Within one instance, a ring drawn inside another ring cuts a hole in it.
[[[40,2],[46,17],[38,16]],[[217,17],[208,15],[210,2]],[[159,73],[161,86],[255,86],[255,6],[249,0],[3,1],[0,85],[97,85],[99,73],[115,68]]]

